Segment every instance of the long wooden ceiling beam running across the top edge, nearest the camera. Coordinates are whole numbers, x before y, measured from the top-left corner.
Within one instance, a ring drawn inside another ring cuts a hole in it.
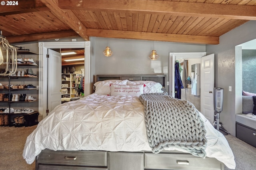
[[[158,0],[58,0],[66,10],[92,10],[256,20],[256,6]]]

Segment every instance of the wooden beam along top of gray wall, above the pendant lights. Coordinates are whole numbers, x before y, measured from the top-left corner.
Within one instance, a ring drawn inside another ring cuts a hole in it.
[[[219,37],[190,36],[182,34],[163,34],[151,32],[132,32],[116,30],[87,29],[88,36],[104,38],[124,38],[135,40],[150,40],[180,43],[219,44]]]

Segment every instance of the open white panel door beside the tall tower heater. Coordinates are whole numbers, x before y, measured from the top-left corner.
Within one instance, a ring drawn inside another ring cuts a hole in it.
[[[214,122],[214,54],[201,60],[201,113]]]

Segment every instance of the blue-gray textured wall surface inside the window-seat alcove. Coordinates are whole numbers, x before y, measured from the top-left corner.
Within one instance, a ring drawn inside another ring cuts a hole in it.
[[[256,48],[256,46],[255,46]],[[243,90],[256,93],[256,50],[242,49]]]

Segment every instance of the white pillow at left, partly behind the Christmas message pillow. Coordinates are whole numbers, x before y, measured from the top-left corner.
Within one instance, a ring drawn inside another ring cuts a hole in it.
[[[98,95],[110,95],[110,84],[120,84],[120,85],[126,85],[127,80],[104,80],[104,81],[97,81],[94,83],[95,85],[95,93]]]

